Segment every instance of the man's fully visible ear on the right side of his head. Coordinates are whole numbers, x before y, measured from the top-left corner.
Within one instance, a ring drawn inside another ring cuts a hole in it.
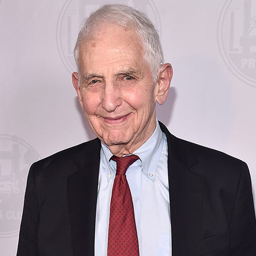
[[[161,66],[156,85],[156,101],[158,104],[162,105],[167,99],[169,88],[170,88],[170,80],[173,77],[173,68],[170,63],[165,63]]]

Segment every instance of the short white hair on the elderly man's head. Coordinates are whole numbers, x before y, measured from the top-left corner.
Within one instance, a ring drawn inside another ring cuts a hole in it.
[[[101,23],[114,23],[127,29],[135,29],[144,48],[144,58],[152,70],[154,80],[163,62],[163,51],[157,30],[143,13],[126,5],[103,5],[84,20],[77,37],[74,57],[78,67],[79,50],[93,29]]]

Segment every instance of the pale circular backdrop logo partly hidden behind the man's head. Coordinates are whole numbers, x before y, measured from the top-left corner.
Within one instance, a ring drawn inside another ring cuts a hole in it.
[[[161,33],[160,18],[151,0],[68,0],[63,6],[57,24],[57,46],[61,60],[70,73],[76,70],[73,49],[79,32],[79,28],[92,11],[103,4],[124,4],[132,6],[148,15],[156,29]]]

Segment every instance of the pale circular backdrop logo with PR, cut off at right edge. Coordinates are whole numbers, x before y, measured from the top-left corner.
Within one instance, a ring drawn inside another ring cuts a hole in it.
[[[256,87],[256,0],[226,1],[218,37],[222,58],[230,71]]]

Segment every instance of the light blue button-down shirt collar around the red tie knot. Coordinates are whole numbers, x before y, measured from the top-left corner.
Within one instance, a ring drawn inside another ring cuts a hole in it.
[[[156,122],[156,129],[151,137],[144,142],[133,154],[137,155],[142,162],[142,172],[144,175],[155,181],[156,170],[159,162],[159,158],[163,149],[164,137],[160,129],[158,121]],[[105,168],[108,180],[113,176],[112,168],[110,166],[110,158],[113,156],[109,147],[101,142],[102,155],[105,158],[105,163],[108,164],[108,168]]]

